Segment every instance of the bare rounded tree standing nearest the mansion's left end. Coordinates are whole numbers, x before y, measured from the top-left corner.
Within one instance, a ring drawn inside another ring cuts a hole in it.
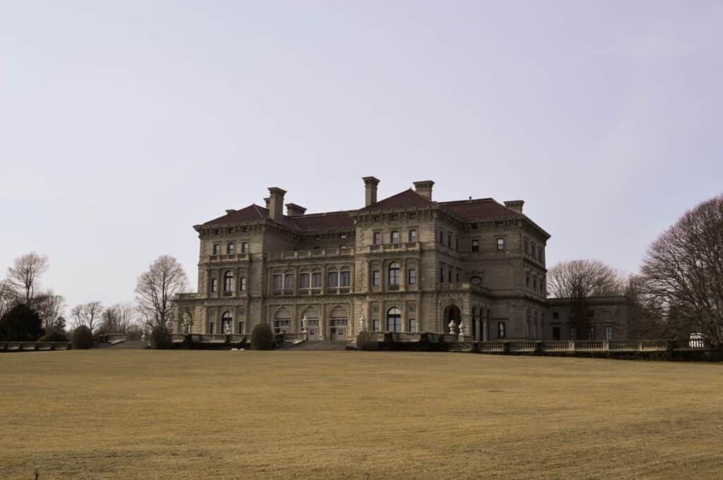
[[[176,294],[186,290],[188,279],[176,258],[162,255],[138,277],[136,300],[150,326],[166,326],[171,320]]]

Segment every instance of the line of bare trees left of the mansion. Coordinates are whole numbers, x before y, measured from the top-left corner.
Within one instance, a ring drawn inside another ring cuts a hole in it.
[[[108,307],[93,301],[75,305],[66,318],[66,302],[41,279],[50,268],[47,256],[31,252],[14,259],[0,280],[0,340],[66,341],[78,328],[95,336],[126,333],[140,336],[154,327],[167,328],[173,318],[173,299],[187,289],[187,276],[171,256],[160,256],[140,274],[134,302]]]

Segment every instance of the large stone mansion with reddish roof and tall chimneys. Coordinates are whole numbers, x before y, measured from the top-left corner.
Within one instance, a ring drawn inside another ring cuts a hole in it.
[[[476,340],[626,338],[619,297],[590,299],[577,320],[570,301],[547,299],[550,235],[523,201],[435,201],[430,180],[378,200],[380,180],[363,180],[360,209],[307,214],[269,188],[265,206],[195,225],[198,290],[176,298],[176,331],[249,334],[268,323],[352,340],[361,322],[442,333],[453,320]]]

